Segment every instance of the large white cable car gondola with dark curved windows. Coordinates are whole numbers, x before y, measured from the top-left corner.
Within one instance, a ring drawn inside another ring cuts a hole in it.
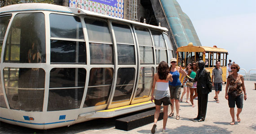
[[[0,8],[0,121],[69,126],[154,107],[166,28],[53,4]]]

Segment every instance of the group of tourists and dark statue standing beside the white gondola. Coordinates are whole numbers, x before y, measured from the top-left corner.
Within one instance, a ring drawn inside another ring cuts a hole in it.
[[[161,105],[163,104],[163,129],[166,131],[166,124],[168,119],[168,105],[171,105],[171,113],[169,117],[174,116],[174,105],[176,108],[176,119],[180,119],[180,102],[183,100],[183,96],[187,93],[186,103],[190,102],[192,107],[195,106],[194,99],[198,97],[198,115],[194,118],[194,121],[204,121],[207,111],[208,94],[212,92],[212,87],[215,89],[215,96],[213,99],[216,103],[220,103],[219,93],[222,91],[222,74],[220,61],[216,61],[216,67],[211,72],[205,69],[205,63],[203,60],[198,62],[188,63],[183,70],[181,66],[177,66],[177,59],[171,59],[171,65],[168,67],[168,63],[162,61],[159,63],[157,73],[154,74],[154,82],[152,86],[151,101],[156,106],[154,113],[154,125],[151,129],[151,133],[156,131],[156,123],[159,118],[159,112]],[[239,117],[243,108],[243,100],[247,99],[246,89],[244,85],[243,75],[238,74],[240,69],[236,63],[228,64],[229,76],[227,78],[225,88],[225,99],[228,100],[230,107],[230,115],[232,121],[230,125],[235,124],[234,107],[237,106],[237,121],[240,122]],[[181,77],[180,77],[181,74]],[[181,80],[183,81],[181,82]],[[183,92],[181,94],[181,86],[183,86]],[[155,89],[156,88],[156,89]]]

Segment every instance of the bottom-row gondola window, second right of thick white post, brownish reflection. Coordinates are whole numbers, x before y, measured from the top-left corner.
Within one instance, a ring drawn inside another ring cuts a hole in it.
[[[83,108],[107,103],[112,87],[113,72],[113,68],[91,69]]]

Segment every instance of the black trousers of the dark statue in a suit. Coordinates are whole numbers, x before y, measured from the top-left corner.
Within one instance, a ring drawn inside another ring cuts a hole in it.
[[[208,94],[198,93],[198,114],[197,117],[205,119],[208,102]]]

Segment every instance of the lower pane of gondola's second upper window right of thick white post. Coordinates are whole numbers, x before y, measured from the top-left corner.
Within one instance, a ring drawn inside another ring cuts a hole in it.
[[[113,64],[113,48],[110,44],[90,43],[91,64]]]

